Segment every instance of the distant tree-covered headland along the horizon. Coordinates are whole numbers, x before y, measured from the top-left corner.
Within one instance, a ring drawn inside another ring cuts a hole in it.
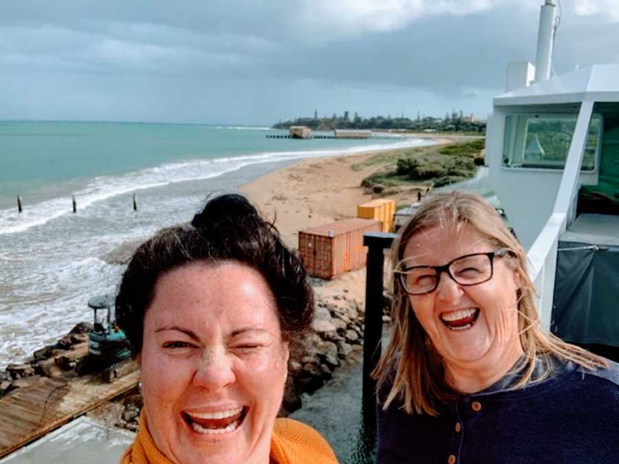
[[[372,116],[371,118],[361,118],[355,113],[353,118],[350,118],[348,111],[344,115],[332,115],[330,118],[325,116],[318,118],[314,114],[314,118],[296,118],[273,124],[273,129],[288,129],[290,126],[307,126],[314,131],[332,131],[334,129],[380,129],[383,131],[398,131],[398,132],[420,132],[420,131],[435,131],[439,133],[455,133],[458,135],[479,135],[486,133],[486,122],[478,121],[473,118],[473,115],[465,116],[463,111],[459,113],[453,111],[447,113],[444,118],[433,118],[432,116],[417,115],[417,119],[397,117],[391,118],[387,116]]]

